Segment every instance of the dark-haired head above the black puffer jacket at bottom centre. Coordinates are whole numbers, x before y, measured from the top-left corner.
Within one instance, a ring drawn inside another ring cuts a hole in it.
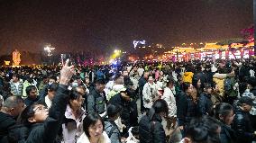
[[[155,113],[159,114],[162,118],[167,117],[169,113],[168,104],[163,99],[156,100],[153,103],[152,108],[154,109]]]

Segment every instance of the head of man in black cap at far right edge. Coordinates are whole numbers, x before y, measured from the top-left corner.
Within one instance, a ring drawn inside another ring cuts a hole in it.
[[[240,106],[243,112],[250,112],[255,103],[253,103],[253,100],[250,97],[242,96],[237,102],[237,105]]]

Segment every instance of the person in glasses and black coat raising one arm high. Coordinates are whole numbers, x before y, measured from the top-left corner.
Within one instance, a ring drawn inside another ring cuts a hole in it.
[[[68,84],[74,74],[74,66],[69,66],[69,59],[60,71],[59,88],[53,98],[50,109],[44,105],[33,103],[22,113],[22,122],[27,127],[27,136],[21,139],[26,143],[53,143],[58,141],[57,135],[64,119],[69,103]]]

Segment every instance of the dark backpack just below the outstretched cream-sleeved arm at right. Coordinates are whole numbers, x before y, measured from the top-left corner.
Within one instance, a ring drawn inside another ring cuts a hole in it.
[[[237,96],[238,92],[233,89],[233,86],[236,84],[234,77],[229,77],[224,80],[224,94],[226,96]]]

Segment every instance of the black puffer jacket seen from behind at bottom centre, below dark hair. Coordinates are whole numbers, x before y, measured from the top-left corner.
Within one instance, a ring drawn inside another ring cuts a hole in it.
[[[154,109],[151,108],[147,115],[144,116],[148,116],[151,122],[145,122],[144,120],[140,121],[140,143],[166,143],[166,135],[161,124],[162,120],[160,118],[160,115],[156,114],[154,112]],[[142,117],[142,119],[144,118]],[[151,124],[151,130],[143,128],[142,125],[146,124]],[[149,139],[149,136],[152,136],[151,142],[148,142],[148,140],[143,140]]]

